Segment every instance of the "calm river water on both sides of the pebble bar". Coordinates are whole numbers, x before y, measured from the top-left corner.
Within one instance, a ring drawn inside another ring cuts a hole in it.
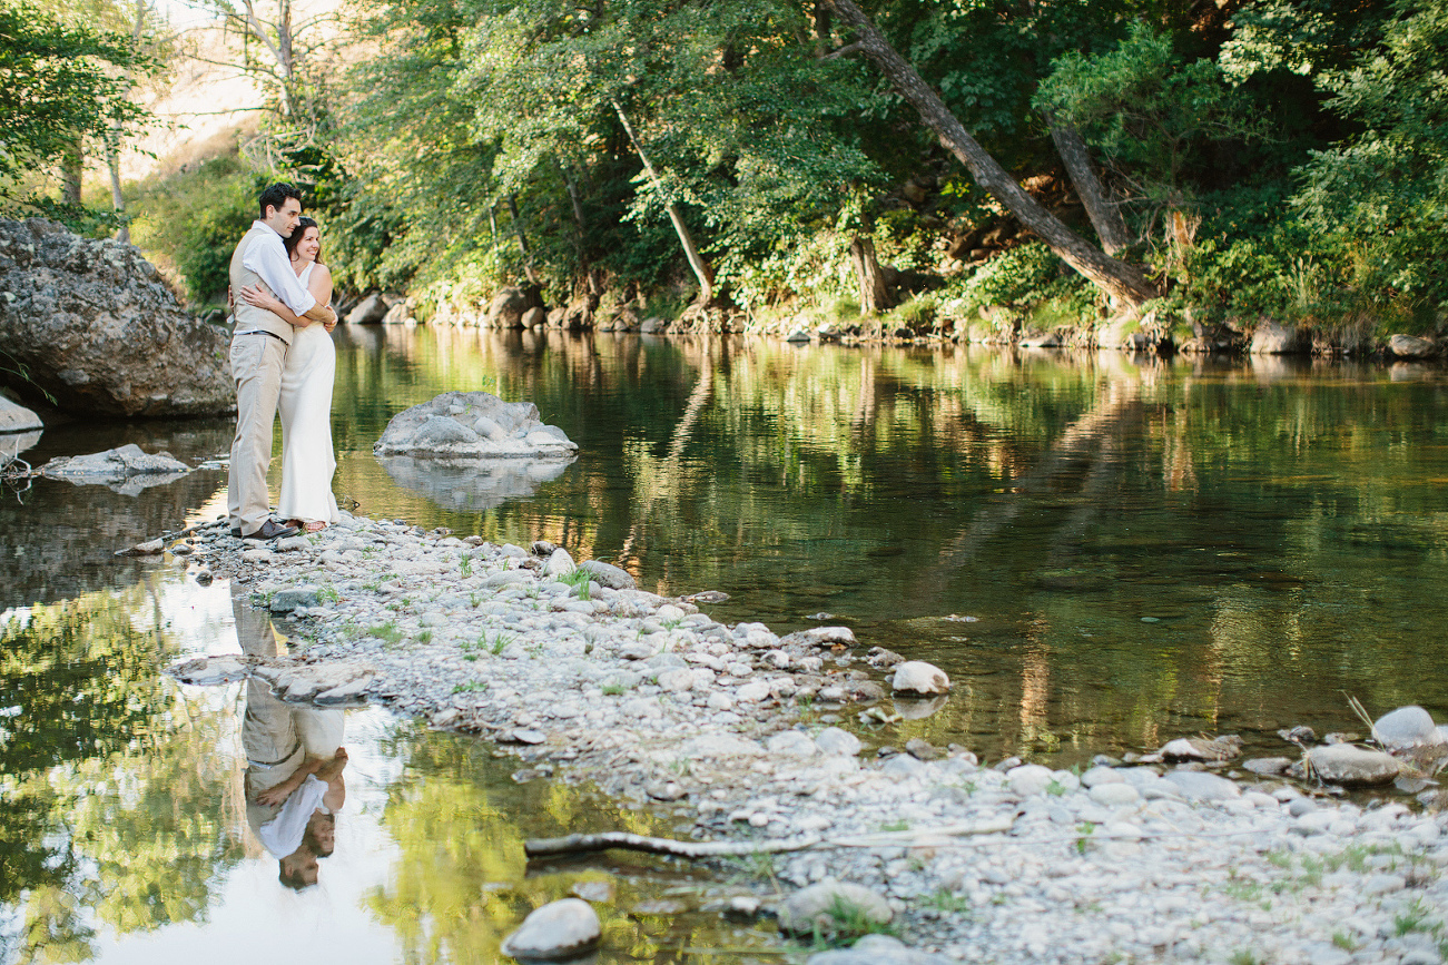
[[[1347,695],[1448,719],[1442,369],[334,338],[336,491],[358,511],[546,538],[663,594],[723,590],[710,610],[725,622],[828,619],[944,667],[944,707],[862,729],[872,745],[922,736],[1070,765],[1199,730],[1279,751],[1277,727],[1352,729]],[[579,458],[478,477],[372,456],[395,412],[449,388],[536,403]],[[52,426],[25,456],[125,442],[195,465],[230,425]],[[0,962],[489,962],[531,907],[589,878],[617,884],[605,962],[779,961],[767,930],[696,911],[730,882],[521,855],[566,830],[678,833],[676,814],[515,784],[514,759],[379,710],[348,713],[348,803],[319,887],[281,887],[245,817],[245,690],[159,672],[239,651],[229,588],[111,555],[213,519],[223,487],[203,468],[139,493],[4,493]]]

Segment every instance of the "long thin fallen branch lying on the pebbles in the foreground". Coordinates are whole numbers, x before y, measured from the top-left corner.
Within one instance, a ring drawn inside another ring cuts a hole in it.
[[[880,832],[879,835],[851,835],[849,837],[824,839],[818,835],[776,840],[708,840],[686,842],[672,837],[646,837],[626,832],[604,832],[601,835],[569,835],[566,837],[544,837],[524,842],[523,853],[529,858],[559,858],[563,855],[588,855],[611,848],[643,851],[650,855],[672,858],[738,858],[741,855],[778,855],[789,851],[824,848],[909,848],[938,845],[946,837],[964,835],[999,835],[1011,830],[1015,814],[1002,814],[985,822],[922,827],[908,832]]]

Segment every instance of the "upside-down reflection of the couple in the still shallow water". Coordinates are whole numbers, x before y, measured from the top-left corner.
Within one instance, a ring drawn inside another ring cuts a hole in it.
[[[271,617],[233,587],[236,638],[248,656],[277,656]],[[336,845],[336,813],[346,801],[342,709],[287,704],[264,680],[246,681],[246,823],[281,864],[288,888],[317,884],[319,858]]]

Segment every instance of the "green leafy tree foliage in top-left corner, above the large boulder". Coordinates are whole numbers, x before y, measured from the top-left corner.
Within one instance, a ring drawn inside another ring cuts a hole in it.
[[[28,175],[139,126],[146,113],[127,100],[125,72],[149,67],[129,36],[0,0],[0,203],[33,203]]]

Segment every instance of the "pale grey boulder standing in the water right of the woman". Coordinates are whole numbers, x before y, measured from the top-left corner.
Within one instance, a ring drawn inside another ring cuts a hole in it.
[[[568,461],[578,443],[544,425],[533,403],[488,393],[443,393],[392,416],[372,446],[378,456]]]

